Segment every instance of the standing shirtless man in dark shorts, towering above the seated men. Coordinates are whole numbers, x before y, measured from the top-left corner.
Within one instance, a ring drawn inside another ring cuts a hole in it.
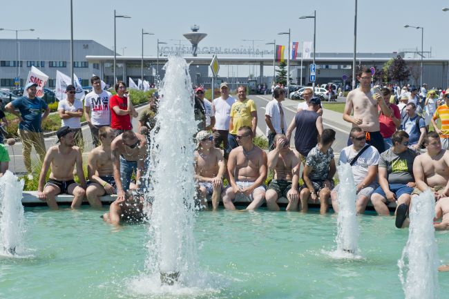
[[[359,126],[365,131],[367,133],[366,143],[374,146],[380,154],[385,151],[385,145],[380,131],[377,107],[381,108],[385,117],[392,117],[392,110],[385,104],[382,95],[376,94],[376,99],[371,95],[371,77],[369,68],[363,66],[359,70],[357,79],[360,82],[360,87],[347,94],[343,119],[352,123],[352,126]],[[353,116],[351,116],[352,111],[354,111]],[[347,145],[351,145],[351,142],[352,139],[349,138]]]

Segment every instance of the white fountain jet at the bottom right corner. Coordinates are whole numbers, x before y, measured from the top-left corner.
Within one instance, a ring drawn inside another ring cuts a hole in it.
[[[398,261],[405,299],[438,298],[439,265],[433,219],[435,200],[430,189],[413,197],[408,241]]]

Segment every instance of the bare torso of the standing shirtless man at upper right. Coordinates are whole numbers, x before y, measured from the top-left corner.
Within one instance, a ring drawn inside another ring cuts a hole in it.
[[[380,130],[377,101],[370,92],[364,93],[360,88],[352,90],[347,95],[345,110],[347,108],[352,108],[354,118],[363,119],[362,124],[359,125],[363,131],[376,132]]]

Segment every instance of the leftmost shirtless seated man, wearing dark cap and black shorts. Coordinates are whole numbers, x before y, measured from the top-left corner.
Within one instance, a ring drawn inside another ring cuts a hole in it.
[[[68,126],[59,128],[56,133],[59,145],[48,149],[39,175],[39,186],[37,197],[46,201],[50,209],[58,209],[56,195],[67,193],[74,195],[72,209],[81,206],[86,194],[86,180],[84,175],[78,175],[81,186],[73,180],[73,167],[76,166],[77,173],[83,174],[83,160],[81,151],[75,146],[74,132]],[[44,186],[48,168],[51,166],[50,179]]]

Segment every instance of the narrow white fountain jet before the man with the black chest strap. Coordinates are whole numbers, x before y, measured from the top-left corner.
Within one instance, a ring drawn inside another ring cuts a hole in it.
[[[348,163],[338,166],[338,218],[335,242],[338,253],[357,253],[359,223],[356,218],[356,184]]]

